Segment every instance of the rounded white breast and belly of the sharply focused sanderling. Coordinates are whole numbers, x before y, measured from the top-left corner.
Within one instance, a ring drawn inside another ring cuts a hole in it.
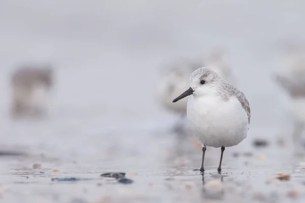
[[[248,116],[238,99],[191,95],[187,107],[191,128],[201,145],[231,147],[247,137]]]

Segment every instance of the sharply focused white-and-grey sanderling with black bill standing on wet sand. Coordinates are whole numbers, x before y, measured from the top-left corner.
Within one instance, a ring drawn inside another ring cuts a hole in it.
[[[221,148],[218,171],[225,147],[238,145],[247,137],[250,125],[249,102],[241,91],[225,82],[207,67],[200,67],[190,77],[190,88],[172,102],[190,96],[187,116],[196,138],[202,146],[200,171],[206,147]]]

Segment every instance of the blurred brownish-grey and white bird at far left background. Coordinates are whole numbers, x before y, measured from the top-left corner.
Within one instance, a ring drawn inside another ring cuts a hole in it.
[[[50,66],[23,66],[11,76],[13,118],[21,115],[41,115],[45,92],[53,83]]]

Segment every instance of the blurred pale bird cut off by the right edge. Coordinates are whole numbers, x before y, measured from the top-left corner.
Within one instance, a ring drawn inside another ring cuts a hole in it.
[[[288,111],[293,116],[293,144],[295,153],[304,153],[300,139],[305,127],[305,52],[289,47],[281,57],[273,79],[288,95]]]

